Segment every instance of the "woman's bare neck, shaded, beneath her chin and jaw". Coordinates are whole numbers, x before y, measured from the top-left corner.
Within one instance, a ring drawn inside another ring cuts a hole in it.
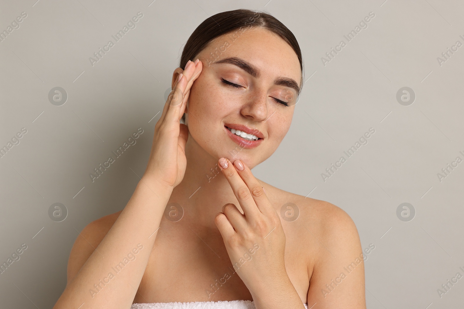
[[[219,158],[207,153],[190,134],[185,152],[185,175],[174,188],[169,202],[182,206],[184,217],[181,220],[216,229],[214,217],[222,212],[222,207],[226,203],[234,203],[241,209],[240,205],[221,171]]]

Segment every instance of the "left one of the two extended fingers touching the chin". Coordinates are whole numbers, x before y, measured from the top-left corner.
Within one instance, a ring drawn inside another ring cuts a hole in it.
[[[242,207],[245,217],[252,218],[253,215],[258,214],[259,210],[251,196],[250,190],[238,174],[232,162],[227,158],[220,158],[219,164],[222,167],[222,173],[229,182],[235,197],[237,197],[237,200]]]

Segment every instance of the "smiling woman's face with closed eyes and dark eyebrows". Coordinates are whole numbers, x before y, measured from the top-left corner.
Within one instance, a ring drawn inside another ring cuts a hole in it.
[[[290,128],[302,77],[295,51],[276,34],[250,27],[216,38],[198,58],[203,69],[185,112],[193,138],[189,143],[197,143],[213,158],[239,158],[250,168],[258,165]],[[246,140],[227,126],[260,139]]]

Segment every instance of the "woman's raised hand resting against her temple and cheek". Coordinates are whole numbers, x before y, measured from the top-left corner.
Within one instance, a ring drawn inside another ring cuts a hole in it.
[[[153,145],[148,159],[144,177],[155,177],[168,189],[174,189],[184,178],[187,167],[185,145],[188,139],[188,128],[180,123],[187,104],[190,88],[200,76],[203,63],[187,63],[177,79],[163,113],[155,125]]]

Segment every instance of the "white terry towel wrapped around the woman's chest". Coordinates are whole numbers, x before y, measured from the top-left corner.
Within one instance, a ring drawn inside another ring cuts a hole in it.
[[[304,308],[308,306],[304,304]],[[255,303],[249,300],[232,300],[218,302],[189,303],[133,303],[130,309],[256,309]]]

